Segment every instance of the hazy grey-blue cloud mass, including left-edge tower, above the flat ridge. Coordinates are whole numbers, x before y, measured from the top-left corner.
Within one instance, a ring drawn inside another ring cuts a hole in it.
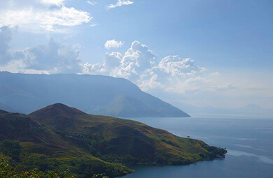
[[[78,45],[60,43],[50,38],[45,45],[11,50],[10,27],[1,27],[0,63],[1,71],[20,73],[82,73]]]

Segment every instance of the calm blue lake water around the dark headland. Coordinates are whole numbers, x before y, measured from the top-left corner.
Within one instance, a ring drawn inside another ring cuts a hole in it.
[[[226,147],[224,160],[203,161],[182,166],[134,166],[125,178],[272,178],[273,119],[253,118],[141,118],[155,128],[207,144]]]

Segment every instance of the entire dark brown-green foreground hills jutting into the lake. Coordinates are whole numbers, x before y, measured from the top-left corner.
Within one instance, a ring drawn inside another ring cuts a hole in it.
[[[223,158],[226,150],[57,103],[29,115],[0,111],[0,152],[22,170],[69,170],[87,178],[101,172],[126,175],[132,172],[128,164],[186,165]]]

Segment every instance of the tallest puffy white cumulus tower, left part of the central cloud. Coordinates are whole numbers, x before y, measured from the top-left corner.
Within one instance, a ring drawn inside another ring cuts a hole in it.
[[[94,67],[92,64],[85,64],[85,71],[113,77],[125,77],[131,81],[137,81],[141,75],[155,65],[157,56],[149,50],[146,45],[134,41],[131,47],[121,54],[120,52],[106,53],[104,64]]]

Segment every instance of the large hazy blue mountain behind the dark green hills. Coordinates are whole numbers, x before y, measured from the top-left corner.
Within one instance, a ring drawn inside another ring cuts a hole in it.
[[[129,80],[102,75],[0,72],[0,103],[24,113],[64,103],[87,113],[114,117],[190,117]]]

